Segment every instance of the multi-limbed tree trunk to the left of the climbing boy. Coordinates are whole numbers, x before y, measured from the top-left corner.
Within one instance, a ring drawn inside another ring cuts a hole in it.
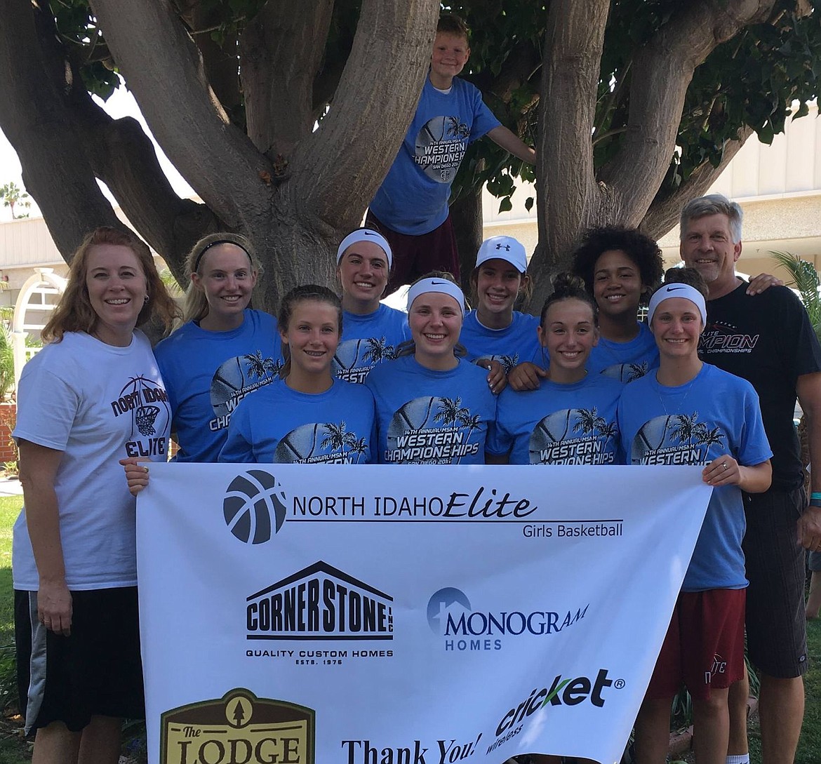
[[[25,184],[62,254],[67,257],[95,226],[122,225],[99,190],[100,177],[181,281],[193,241],[222,229],[249,236],[259,249],[265,266],[260,307],[275,310],[283,292],[299,283],[333,285],[335,246],[358,225],[410,124],[439,6],[432,0],[364,0],[344,70],[330,78],[338,79],[333,107],[314,131],[314,80],[331,3],[320,5],[317,15],[312,5],[282,11],[272,0],[258,25],[250,24],[243,48],[248,55],[259,53],[253,34],[270,31],[266,23],[277,14],[289,16],[296,35],[259,60],[255,82],[261,86],[251,88],[253,103],[245,94],[258,126],[255,145],[223,108],[233,108],[230,62],[218,61],[200,40],[204,60],[178,16],[201,17],[197,3],[181,8],[172,0],[92,0],[108,51],[154,136],[203,199],[195,204],[173,194],[135,121],[113,121],[82,89],[48,6],[3,0],[0,92],[7,102],[0,125],[21,156]],[[287,44],[297,38],[299,52]],[[266,40],[258,35],[259,44]],[[277,103],[270,83],[298,54],[305,66],[287,76],[300,93],[293,102]],[[217,70],[219,94],[209,80]],[[291,103],[300,105],[299,113],[283,115]],[[265,117],[272,131],[260,126]],[[290,153],[277,157],[277,150],[272,161],[262,145],[268,140]]]

